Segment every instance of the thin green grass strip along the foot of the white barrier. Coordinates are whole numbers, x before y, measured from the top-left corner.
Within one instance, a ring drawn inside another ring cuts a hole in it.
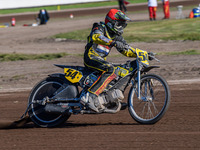
[[[146,0],[129,0],[129,2],[130,3],[143,3],[143,2],[147,2],[147,1]],[[77,8],[89,8],[89,7],[104,7],[104,6],[113,6],[113,5],[118,5],[118,2],[113,0],[113,1],[107,1],[107,2],[93,2],[93,3],[83,3],[83,4],[60,5],[60,9],[65,10],[65,9],[77,9]],[[38,12],[40,9],[46,9],[48,11],[57,10],[57,6],[5,9],[5,10],[0,10],[0,14]]]

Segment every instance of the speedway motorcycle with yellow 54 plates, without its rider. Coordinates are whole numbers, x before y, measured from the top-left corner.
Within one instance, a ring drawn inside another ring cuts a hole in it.
[[[136,55],[135,60],[113,64],[118,78],[98,96],[99,112],[83,106],[80,100],[101,73],[83,66],[55,64],[64,69],[64,73],[48,75],[32,89],[24,115],[28,113],[37,126],[55,127],[67,121],[72,114],[114,114],[128,107],[136,122],[158,122],[170,104],[170,90],[163,77],[148,73],[159,68],[149,65],[149,60],[159,61],[155,54],[136,49]],[[129,89],[129,95],[127,102],[123,102],[126,89]]]

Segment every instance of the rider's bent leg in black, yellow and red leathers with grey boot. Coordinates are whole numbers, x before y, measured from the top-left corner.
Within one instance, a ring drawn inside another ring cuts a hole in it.
[[[88,104],[90,109],[98,112],[98,95],[103,92],[106,86],[117,77],[112,64],[102,59],[98,54],[90,53],[84,57],[85,66],[89,69],[103,72],[102,75],[89,88],[88,93],[82,97],[81,103]]]

